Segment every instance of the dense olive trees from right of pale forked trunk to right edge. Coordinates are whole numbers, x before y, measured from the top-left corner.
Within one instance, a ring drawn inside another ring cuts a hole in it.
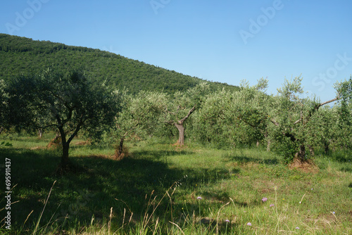
[[[263,79],[253,87],[243,82],[240,91],[209,95],[197,115],[199,138],[227,146],[265,142],[287,161],[306,160],[306,148],[313,155],[315,147],[351,146],[352,79],[337,83],[337,97],[325,102],[300,98],[301,80],[285,80],[276,96],[263,92],[268,85]],[[339,102],[334,108],[321,108],[334,101]]]

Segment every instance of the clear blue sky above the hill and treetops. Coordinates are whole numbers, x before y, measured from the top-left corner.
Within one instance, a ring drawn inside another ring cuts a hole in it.
[[[3,0],[0,32],[239,85],[302,75],[321,101],[352,73],[351,0]],[[1,58],[0,58],[1,63]]]

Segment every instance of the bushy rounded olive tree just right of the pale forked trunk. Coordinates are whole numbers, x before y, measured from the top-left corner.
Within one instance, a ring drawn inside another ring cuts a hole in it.
[[[243,81],[239,91],[223,89],[208,95],[198,115],[201,139],[217,146],[250,145],[265,139],[267,85],[263,78],[252,87]]]

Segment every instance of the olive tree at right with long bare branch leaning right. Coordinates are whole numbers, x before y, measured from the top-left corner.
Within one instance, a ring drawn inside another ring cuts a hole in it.
[[[301,77],[293,80],[285,80],[282,88],[277,89],[274,106],[270,112],[272,123],[271,134],[277,144],[282,147],[286,160],[297,158],[301,162],[306,161],[306,147],[311,155],[314,155],[312,138],[318,132],[318,124],[312,122],[318,110],[334,101],[341,99],[341,89],[337,89],[337,97],[329,101],[320,102],[319,99],[300,98],[303,94]],[[341,82],[343,85],[351,82]],[[347,93],[344,95],[347,96]]]

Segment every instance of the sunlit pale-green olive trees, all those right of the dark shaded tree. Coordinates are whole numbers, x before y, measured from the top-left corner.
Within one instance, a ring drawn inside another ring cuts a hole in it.
[[[351,79],[337,83],[337,97],[325,102],[314,97],[300,98],[303,94],[301,81],[301,77],[285,80],[276,96],[265,94],[268,80],[263,79],[252,87],[248,82],[242,82],[241,89],[234,92],[221,90],[207,94],[206,84],[201,84],[174,96],[154,93],[152,100],[158,100],[158,108],[153,108],[153,112],[150,108],[156,104],[145,103],[142,92],[136,97],[130,96],[134,105],[127,105],[130,108],[124,109],[119,123],[133,120],[134,128],[130,130],[141,131],[149,127],[149,135],[155,134],[158,125],[170,124],[177,127],[180,145],[184,144],[185,127],[189,129],[186,135],[194,141],[217,146],[265,142],[268,151],[272,146],[287,161],[292,158],[304,161],[306,151],[314,155],[314,148],[329,151],[330,148],[351,146]],[[340,103],[327,108],[326,105],[334,101]],[[139,113],[134,115],[136,110]],[[148,118],[150,115],[153,118]],[[146,120],[141,122],[142,118]]]

